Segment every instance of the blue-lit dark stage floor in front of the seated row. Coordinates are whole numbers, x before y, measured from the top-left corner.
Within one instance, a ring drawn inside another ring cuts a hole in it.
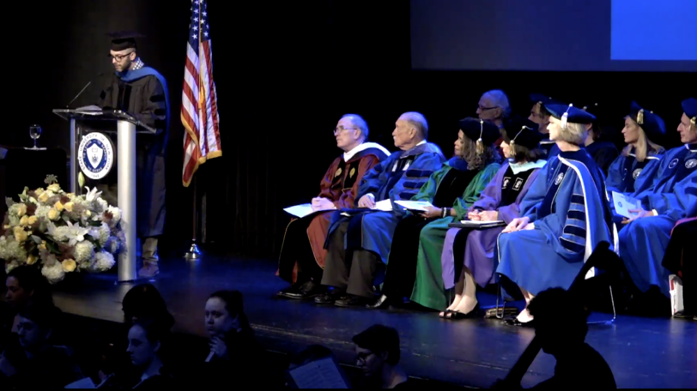
[[[318,306],[276,298],[286,282],[272,261],[209,257],[198,264],[164,260],[154,285],[176,318],[175,330],[205,336],[204,303],[218,289],[238,289],[260,342],[270,351],[293,353],[323,344],[353,364],[351,337],[372,324],[399,330],[401,364],[408,374],[457,385],[488,388],[503,378],[534,331],[494,319],[446,321],[435,312]],[[61,287],[56,305],[68,313],[122,321],[121,299],[132,285],[115,276],[89,276],[77,287]],[[482,304],[493,304],[482,294]],[[594,314],[594,319],[610,319]],[[619,316],[611,326],[590,326],[586,341],[607,360],[620,388],[697,388],[697,322]],[[540,353],[523,378],[528,388],[553,374],[553,357]],[[592,376],[592,374],[589,374]]]

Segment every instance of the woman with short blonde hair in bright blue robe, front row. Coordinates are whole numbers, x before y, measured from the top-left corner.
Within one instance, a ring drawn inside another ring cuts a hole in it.
[[[550,138],[561,150],[523,198],[521,216],[498,237],[496,273],[521,290],[526,304],[544,289],[568,289],[593,249],[611,239],[611,213],[604,176],[583,145],[595,117],[569,105],[548,105]],[[591,271],[589,275],[592,275]],[[511,326],[526,326],[526,309]]]

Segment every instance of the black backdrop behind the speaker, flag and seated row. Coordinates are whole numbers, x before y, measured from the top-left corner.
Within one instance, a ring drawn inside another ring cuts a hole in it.
[[[680,73],[415,72],[408,1],[209,1],[223,156],[195,177],[199,195],[206,194],[206,246],[225,253],[277,254],[289,221],[282,208],[315,196],[340,153],[330,129],[342,113],[364,115],[373,141],[394,150],[394,121],[404,111],[421,111],[431,141],[450,154],[457,120],[475,115],[477,99],[491,88],[506,90],[519,113],[529,111],[530,92],[606,102],[620,128],[629,100],[636,99],[666,119],[672,146],[680,101],[694,85],[694,74]],[[192,235],[178,118],[189,7],[189,0],[7,5],[7,15],[32,13],[23,35],[6,41],[15,42],[6,46],[6,95],[19,95],[0,132],[6,145],[31,145],[28,127],[38,122],[41,145],[67,150],[68,125],[51,109],[65,106],[98,72],[109,72],[107,31],[148,35],[140,55],[167,78],[173,102],[164,248],[174,253]],[[101,83],[95,79],[73,106],[89,103]]]

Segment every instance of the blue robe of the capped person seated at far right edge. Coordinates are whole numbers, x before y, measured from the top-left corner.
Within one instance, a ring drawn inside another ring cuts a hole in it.
[[[649,189],[639,193],[645,210],[657,216],[638,218],[620,231],[620,257],[634,285],[646,292],[656,285],[670,296],[669,272],[661,264],[671,230],[681,218],[694,216],[697,204],[697,145],[669,150]]]

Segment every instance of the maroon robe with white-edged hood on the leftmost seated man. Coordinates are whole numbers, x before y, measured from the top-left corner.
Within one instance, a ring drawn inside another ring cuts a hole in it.
[[[355,203],[358,201],[355,200],[355,197],[356,194],[358,194],[358,187],[360,186],[363,175],[374,166],[377,166],[381,160],[389,156],[388,150],[381,145],[375,143],[366,144],[370,146],[355,153],[348,161],[344,161],[344,154],[334,159],[332,165],[329,166],[329,169],[319,184],[320,192],[318,197],[332,200],[337,209],[353,209],[355,207]],[[309,225],[307,225],[307,238],[312,248],[314,260],[322,269],[324,269],[324,260],[327,256],[324,242],[327,239],[330,218],[334,212],[334,210],[316,212],[300,219],[311,220],[309,221]],[[293,223],[296,223],[296,221],[291,221],[291,224]],[[286,232],[288,232],[287,229]],[[284,241],[285,239],[284,237]],[[282,248],[281,251],[283,250]],[[289,282],[296,282],[298,277],[297,262],[295,266],[293,266],[291,276],[284,275],[286,273],[281,272],[284,269],[287,270],[279,265],[279,271],[276,272],[276,275]]]

